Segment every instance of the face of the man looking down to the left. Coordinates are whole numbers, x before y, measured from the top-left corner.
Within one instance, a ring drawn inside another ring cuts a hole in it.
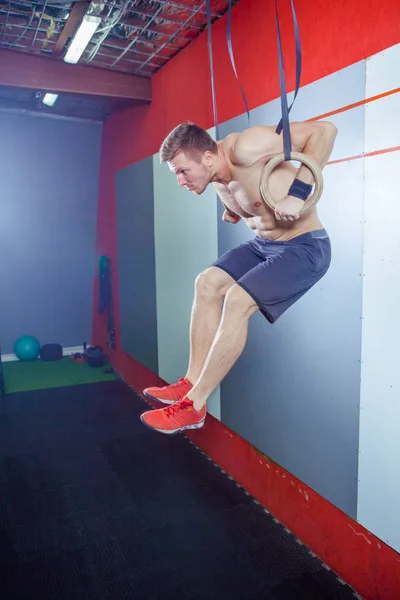
[[[176,175],[180,187],[184,186],[190,192],[200,195],[211,181],[212,163],[210,152],[205,152],[199,161],[188,158],[180,152],[168,163],[168,166],[171,173]]]

